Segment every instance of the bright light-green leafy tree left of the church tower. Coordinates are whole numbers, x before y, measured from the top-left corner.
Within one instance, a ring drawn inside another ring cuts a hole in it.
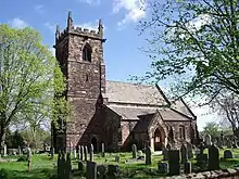
[[[38,108],[48,119],[56,119],[52,111],[67,108],[64,77],[49,49],[41,44],[40,35],[30,28],[14,29],[0,25],[0,143],[4,144],[7,128],[21,116]],[[58,97],[58,98],[54,98]],[[53,107],[53,108],[52,108]],[[62,114],[67,115],[67,114]],[[25,118],[27,120],[27,118]],[[27,120],[30,123],[30,120]]]

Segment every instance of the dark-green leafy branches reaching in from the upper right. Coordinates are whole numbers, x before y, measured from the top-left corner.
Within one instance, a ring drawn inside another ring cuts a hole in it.
[[[139,25],[153,71],[142,79],[174,79],[176,97],[221,91],[239,94],[239,1],[149,0]],[[177,78],[175,80],[175,78]]]

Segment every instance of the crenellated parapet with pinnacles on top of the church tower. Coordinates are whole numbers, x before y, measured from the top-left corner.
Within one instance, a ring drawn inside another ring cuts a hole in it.
[[[67,18],[67,27],[63,31],[60,31],[60,27],[56,26],[55,42],[60,42],[67,35],[76,35],[76,36],[83,36],[86,38],[103,40],[102,22],[101,22],[101,20],[99,20],[98,30],[92,30],[92,29],[88,29],[88,28],[81,28],[78,26],[74,26],[73,20],[72,20],[72,12],[70,11],[68,18]]]

